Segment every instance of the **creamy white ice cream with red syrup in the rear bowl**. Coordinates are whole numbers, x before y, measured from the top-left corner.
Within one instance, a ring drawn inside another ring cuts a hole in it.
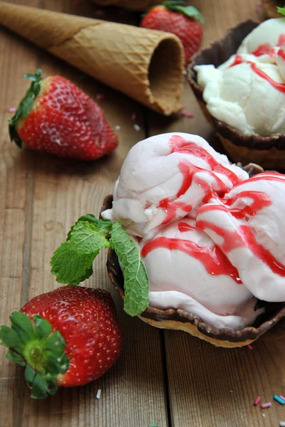
[[[213,117],[242,135],[285,133],[285,19],[270,19],[244,38],[237,54],[215,68],[197,65],[198,85]]]

